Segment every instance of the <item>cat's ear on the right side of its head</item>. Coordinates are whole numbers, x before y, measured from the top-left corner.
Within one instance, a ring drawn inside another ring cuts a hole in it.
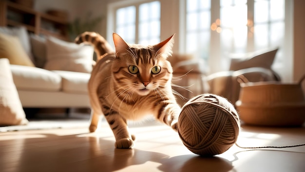
[[[156,52],[156,56],[162,56],[163,58],[167,58],[172,55],[172,45],[173,45],[173,34],[171,37],[166,40],[156,44],[153,46],[154,51]]]

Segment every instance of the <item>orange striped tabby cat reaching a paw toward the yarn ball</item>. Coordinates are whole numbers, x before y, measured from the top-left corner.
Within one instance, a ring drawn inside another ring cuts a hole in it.
[[[98,56],[88,83],[92,108],[90,132],[95,132],[104,115],[115,137],[116,148],[132,148],[135,137],[128,131],[127,120],[148,115],[177,131],[180,105],[173,94],[173,36],[150,46],[128,44],[113,33],[115,52],[99,34],[85,32],[76,43],[95,47]]]

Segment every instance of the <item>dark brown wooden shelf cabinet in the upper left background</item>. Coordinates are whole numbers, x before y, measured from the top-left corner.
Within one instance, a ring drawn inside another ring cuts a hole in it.
[[[34,34],[68,40],[66,18],[41,13],[7,0],[0,0],[0,26],[24,26]]]

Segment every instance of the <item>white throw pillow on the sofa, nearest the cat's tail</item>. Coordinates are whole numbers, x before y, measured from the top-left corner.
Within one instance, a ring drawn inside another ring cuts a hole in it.
[[[47,61],[44,69],[91,73],[94,49],[90,45],[66,42],[55,37],[46,41]]]

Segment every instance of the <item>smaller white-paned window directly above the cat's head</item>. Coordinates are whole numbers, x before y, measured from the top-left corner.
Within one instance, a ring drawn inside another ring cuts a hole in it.
[[[115,32],[126,42],[155,44],[160,41],[160,2],[136,3],[115,12]]]

